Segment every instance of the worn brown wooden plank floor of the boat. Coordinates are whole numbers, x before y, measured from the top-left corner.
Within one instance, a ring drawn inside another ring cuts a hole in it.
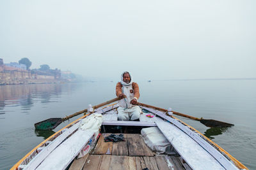
[[[124,134],[125,141],[104,142],[104,133],[90,154],[75,159],[69,169],[190,169],[179,155],[157,155],[140,134]]]

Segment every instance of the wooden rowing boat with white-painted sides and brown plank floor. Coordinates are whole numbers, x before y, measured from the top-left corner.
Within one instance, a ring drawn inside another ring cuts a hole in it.
[[[181,120],[140,107],[140,122],[118,121],[116,103],[98,108],[45,139],[11,169],[247,169]],[[82,122],[93,120],[96,113],[102,115],[97,132],[81,129]],[[159,129],[171,152],[158,153],[145,144],[140,132],[147,127]],[[104,142],[111,133],[124,134],[125,141]]]

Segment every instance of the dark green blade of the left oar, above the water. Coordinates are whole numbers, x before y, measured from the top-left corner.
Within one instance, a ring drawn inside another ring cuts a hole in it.
[[[50,130],[54,129],[62,122],[62,118],[49,118],[42,122],[38,122],[35,124],[35,128],[38,130]]]

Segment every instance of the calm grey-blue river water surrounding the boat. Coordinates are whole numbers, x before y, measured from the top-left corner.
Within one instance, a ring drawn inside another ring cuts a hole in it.
[[[256,169],[256,80],[137,81],[140,102],[172,107],[194,117],[235,124],[209,128],[180,118],[227,150],[249,169]],[[0,87],[0,169],[9,169],[54,131],[35,131],[34,124],[65,117],[115,98],[115,82],[6,85]],[[77,116],[76,118],[78,118]],[[72,118],[70,121],[75,120]]]

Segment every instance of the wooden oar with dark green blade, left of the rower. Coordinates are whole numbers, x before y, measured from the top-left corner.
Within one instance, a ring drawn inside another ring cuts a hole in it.
[[[115,101],[118,101],[120,100],[121,98],[119,97],[116,97],[115,99],[112,99],[110,101],[106,101],[104,103],[101,103],[101,104],[98,104],[98,105],[95,105],[93,106],[94,109],[97,109],[97,108],[100,108],[106,104],[110,104],[110,103],[113,103]],[[38,130],[49,130],[49,129],[54,129],[55,127],[57,127],[58,125],[60,125],[62,122],[64,122],[65,120],[68,120],[69,118],[72,118],[72,117],[76,117],[77,115],[80,115],[81,113],[84,113],[84,112],[87,112],[87,109],[85,110],[81,110],[81,111],[78,111],[72,115],[69,115],[67,117],[64,117],[64,118],[49,118],[47,120],[44,120],[42,122],[38,122],[35,124],[35,128],[38,129]]]

